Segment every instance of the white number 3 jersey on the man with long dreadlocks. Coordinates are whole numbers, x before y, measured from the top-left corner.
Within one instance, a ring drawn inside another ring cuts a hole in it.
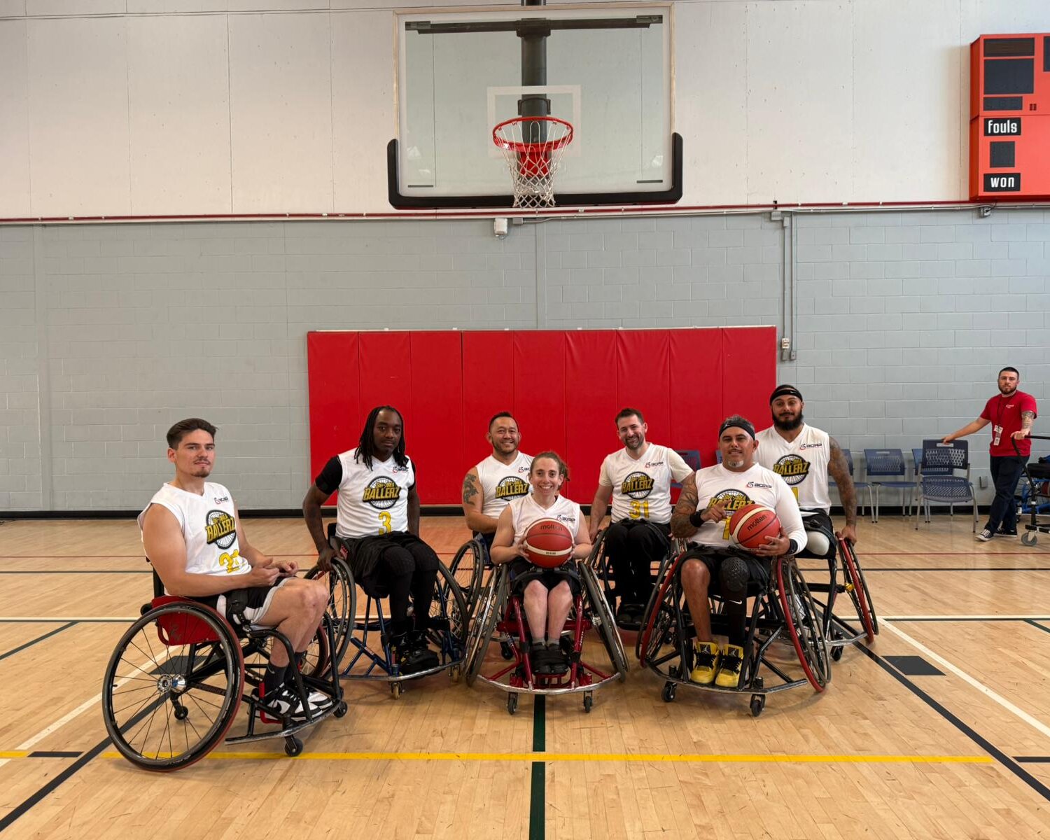
[[[392,455],[385,461],[363,458],[355,461],[357,449],[340,453],[342,480],[336,504],[335,532],[343,539],[372,537],[408,530],[408,488],[416,484],[410,460],[398,466]]]

